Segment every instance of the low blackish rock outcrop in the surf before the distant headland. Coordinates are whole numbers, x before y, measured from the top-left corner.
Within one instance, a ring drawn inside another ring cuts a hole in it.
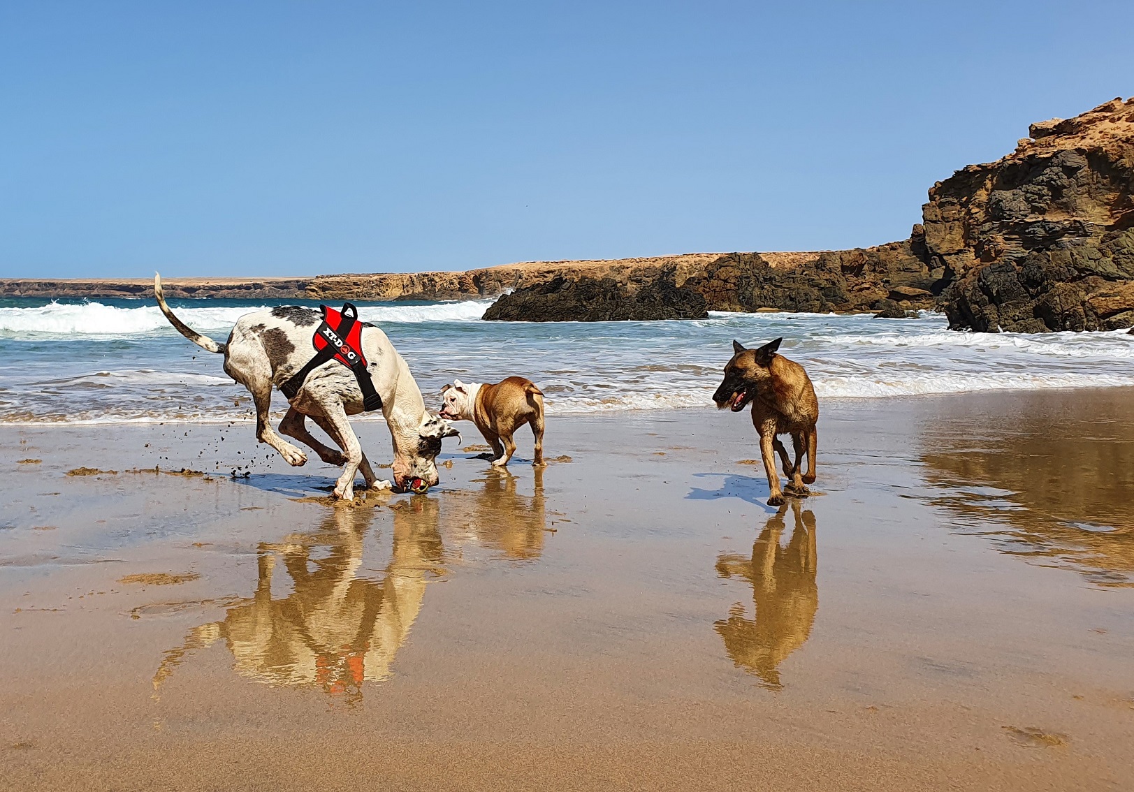
[[[484,312],[485,320],[505,322],[621,322],[703,318],[705,300],[678,287],[674,271],[665,270],[633,293],[612,278],[559,276],[503,295]]]

